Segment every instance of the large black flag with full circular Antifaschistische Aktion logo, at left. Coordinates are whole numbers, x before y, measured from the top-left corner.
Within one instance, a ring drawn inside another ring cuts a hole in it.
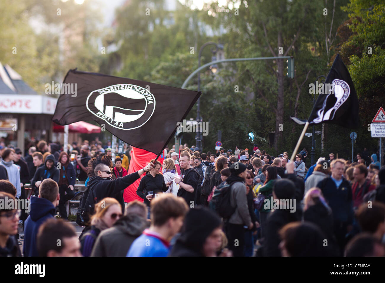
[[[62,91],[52,121],[63,126],[93,120],[122,141],[155,154],[202,93],[76,69],[69,70],[63,88],[77,93]]]

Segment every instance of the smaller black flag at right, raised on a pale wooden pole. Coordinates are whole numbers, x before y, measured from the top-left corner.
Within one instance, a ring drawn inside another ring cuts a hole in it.
[[[320,123],[337,124],[346,128],[355,128],[360,124],[358,117],[358,99],[352,78],[338,54],[325,80],[325,86],[330,86],[328,93],[318,95],[311,111],[309,125]],[[291,117],[298,124],[306,120]]]

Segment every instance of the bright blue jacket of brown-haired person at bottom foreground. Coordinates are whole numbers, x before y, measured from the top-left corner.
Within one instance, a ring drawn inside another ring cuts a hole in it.
[[[149,229],[136,238],[128,250],[127,256],[167,256],[170,252],[168,243],[159,237],[152,236]]]

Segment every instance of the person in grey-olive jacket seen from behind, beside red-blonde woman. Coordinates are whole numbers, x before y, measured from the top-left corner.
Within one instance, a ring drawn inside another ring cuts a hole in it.
[[[100,232],[91,256],[126,256],[134,240],[149,226],[146,206],[135,200],[114,226]]]

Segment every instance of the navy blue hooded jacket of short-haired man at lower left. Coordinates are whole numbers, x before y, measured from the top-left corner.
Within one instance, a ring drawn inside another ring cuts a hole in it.
[[[37,253],[37,232],[42,223],[54,218],[55,206],[44,198],[31,196],[30,214],[24,224],[24,256],[39,256]]]

